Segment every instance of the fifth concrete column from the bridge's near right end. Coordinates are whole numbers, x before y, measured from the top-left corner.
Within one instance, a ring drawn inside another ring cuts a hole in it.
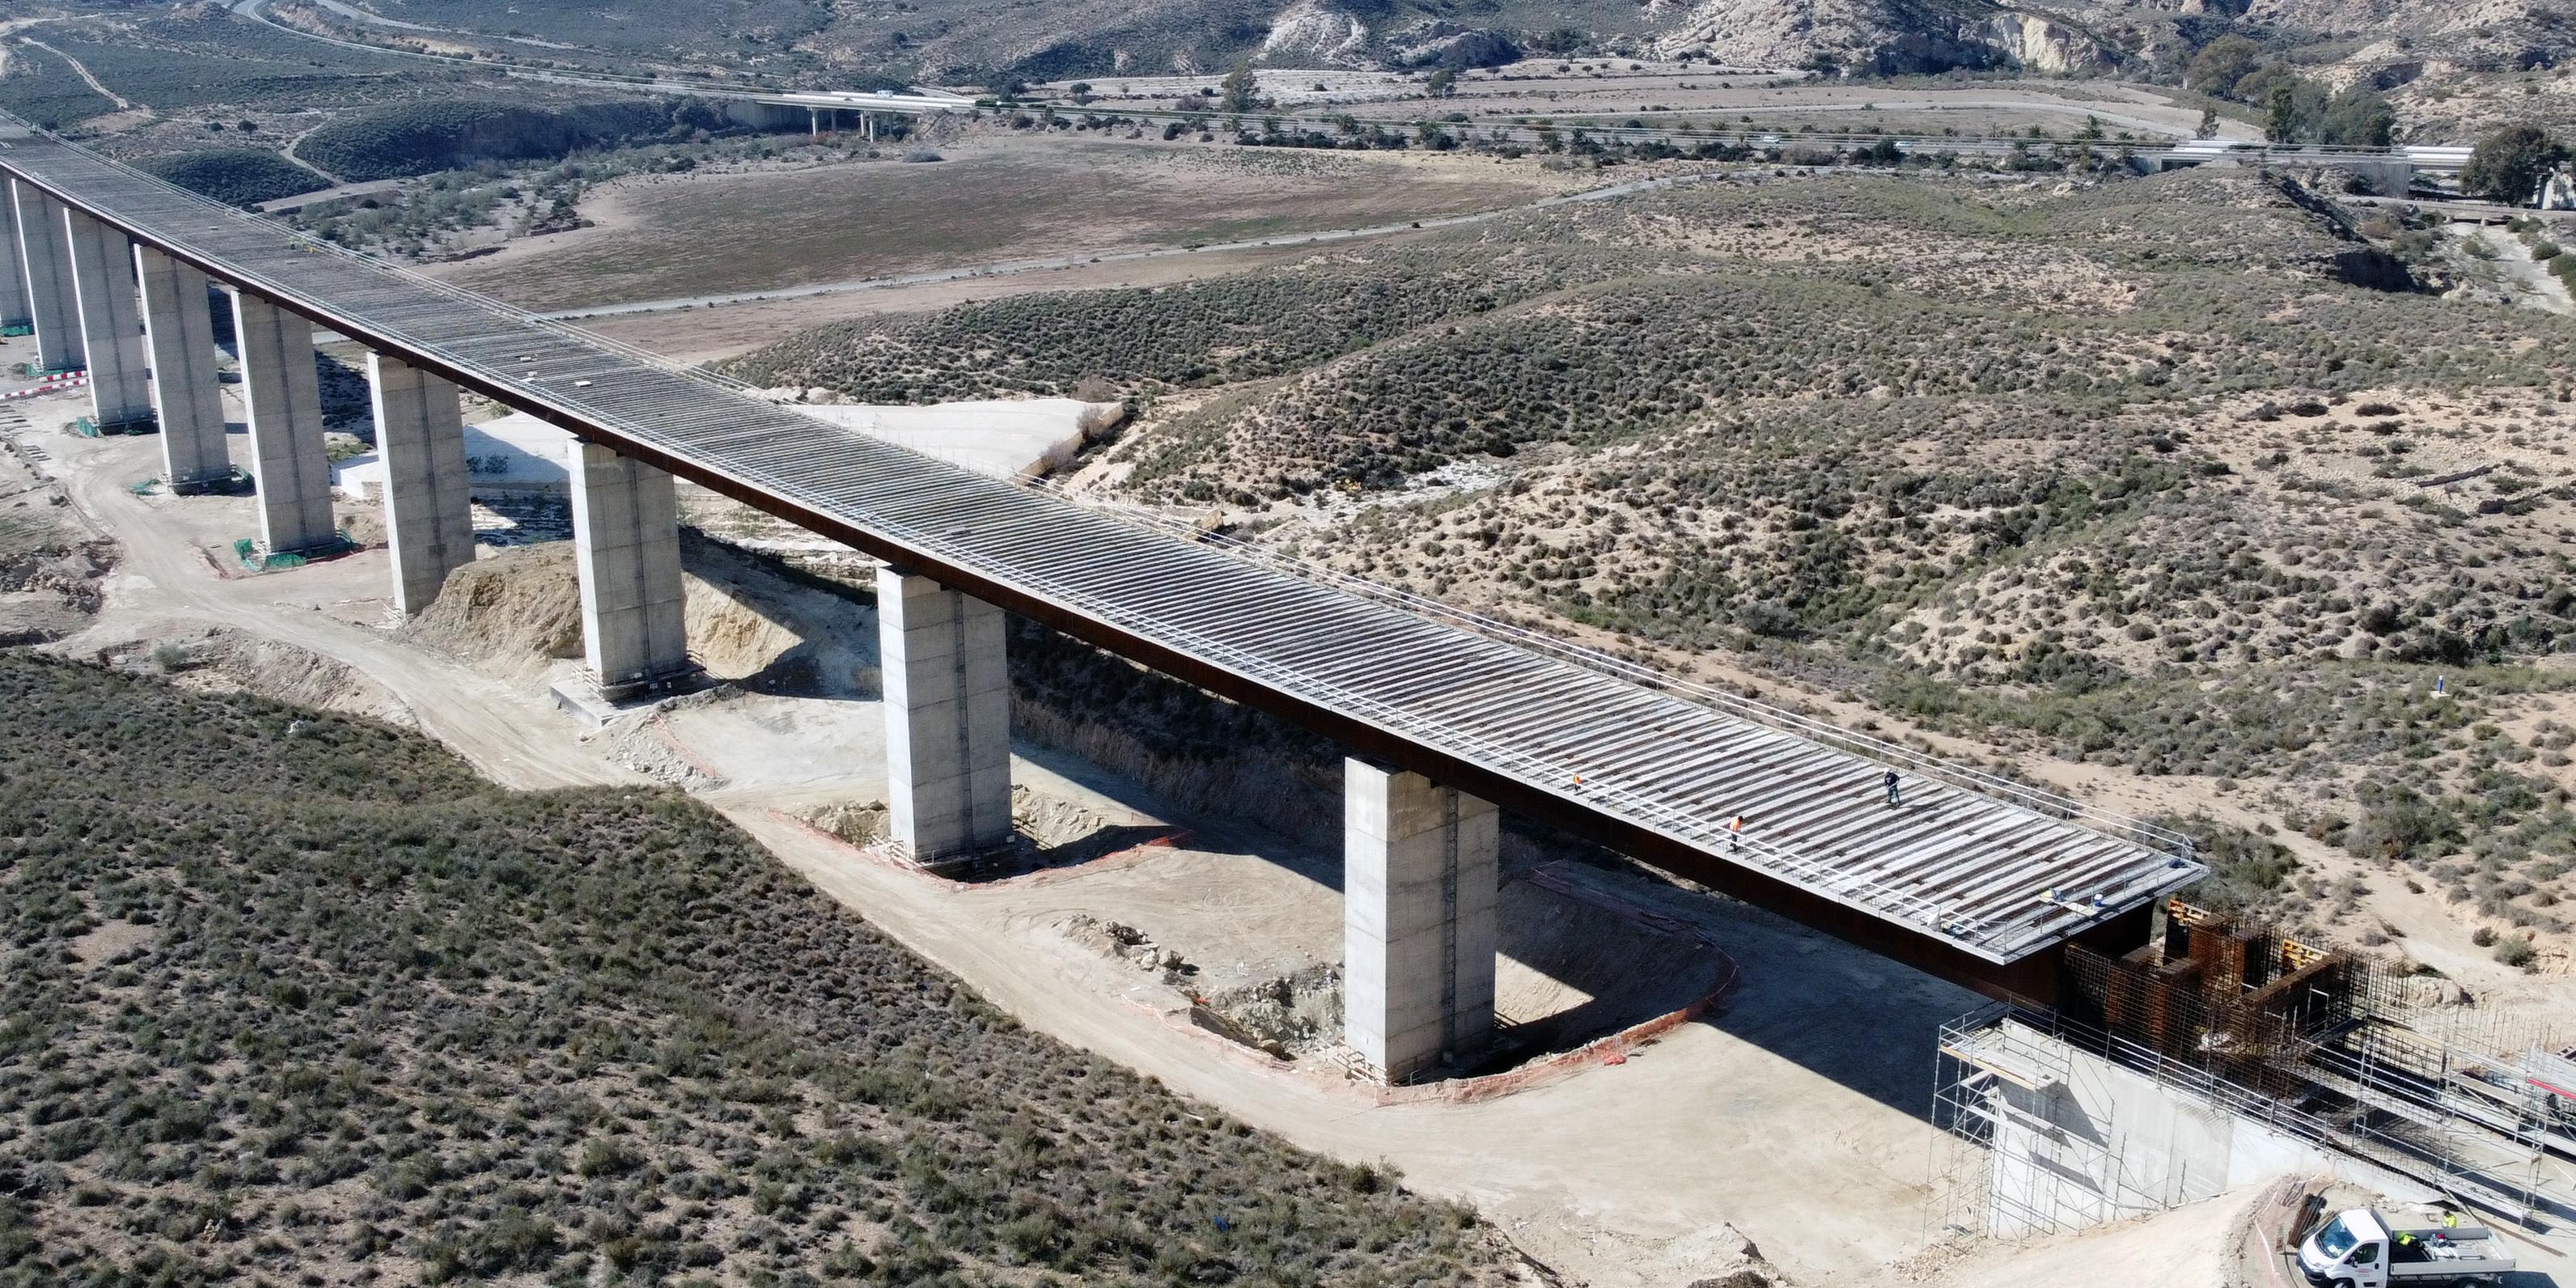
[[[250,291],[234,291],[232,335],[242,353],[242,402],[250,404],[260,544],[273,554],[322,546],[340,533],[330,520],[314,327]]]

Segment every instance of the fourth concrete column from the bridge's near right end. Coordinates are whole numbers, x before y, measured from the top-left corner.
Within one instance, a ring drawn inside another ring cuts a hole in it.
[[[384,459],[384,531],[394,551],[394,605],[420,613],[474,562],[466,505],[466,417],[456,386],[384,353],[366,355]]]

